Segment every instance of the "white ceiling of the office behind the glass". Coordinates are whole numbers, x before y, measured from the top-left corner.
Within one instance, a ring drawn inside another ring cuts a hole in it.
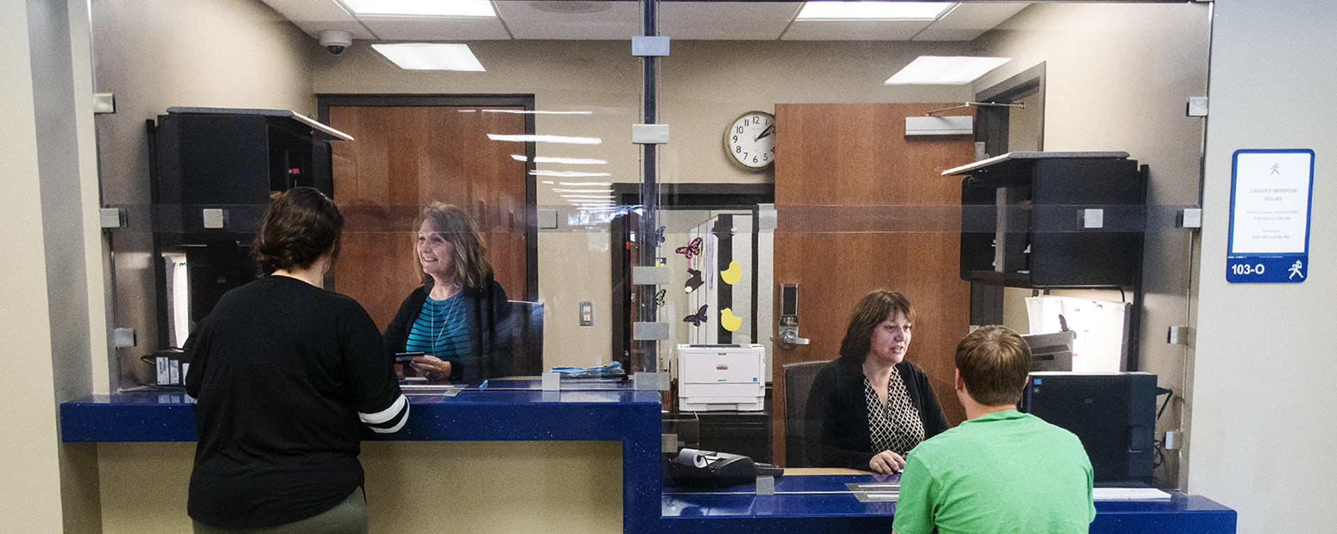
[[[344,29],[353,39],[468,41],[509,39],[630,40],[644,35],[640,3],[493,0],[499,17],[357,16],[340,0],[262,0],[313,39]],[[971,40],[1028,5],[960,4],[936,21],[796,21],[801,1],[659,3],[659,35],[709,40]]]

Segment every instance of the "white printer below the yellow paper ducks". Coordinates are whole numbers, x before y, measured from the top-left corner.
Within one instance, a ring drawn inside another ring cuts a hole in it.
[[[766,400],[766,348],[678,345],[679,411],[761,411]]]

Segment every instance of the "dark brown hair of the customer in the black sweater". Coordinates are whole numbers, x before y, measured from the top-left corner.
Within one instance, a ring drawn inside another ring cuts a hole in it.
[[[293,187],[270,202],[251,246],[265,274],[306,269],[326,252],[338,252],[344,215],[314,187]]]

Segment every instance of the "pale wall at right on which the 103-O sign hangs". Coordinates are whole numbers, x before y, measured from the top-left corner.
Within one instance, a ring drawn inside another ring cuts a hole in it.
[[[1337,4],[1218,0],[1214,15],[1186,486],[1238,510],[1241,533],[1330,533],[1337,112],[1305,103],[1337,84]],[[1226,282],[1231,155],[1239,149],[1316,153],[1302,284]]]

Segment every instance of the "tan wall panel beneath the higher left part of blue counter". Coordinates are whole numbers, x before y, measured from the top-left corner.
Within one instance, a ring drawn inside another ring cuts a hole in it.
[[[187,533],[194,443],[98,444],[104,534]],[[369,442],[372,533],[620,533],[618,442]]]

